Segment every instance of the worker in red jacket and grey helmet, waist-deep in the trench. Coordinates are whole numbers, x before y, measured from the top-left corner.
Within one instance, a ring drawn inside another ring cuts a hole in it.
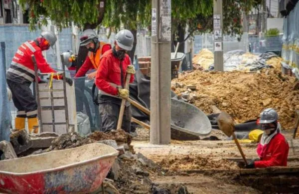
[[[278,114],[272,108],[265,109],[260,114],[259,123],[264,131],[257,147],[260,161],[251,162],[247,169],[266,168],[274,166],[287,166],[289,144],[280,133],[281,126],[278,122]]]

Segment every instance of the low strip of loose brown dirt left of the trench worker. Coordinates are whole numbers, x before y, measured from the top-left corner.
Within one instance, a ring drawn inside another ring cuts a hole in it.
[[[157,162],[162,168],[173,172],[204,169],[238,169],[235,162],[224,159],[213,159],[199,155],[169,156]]]

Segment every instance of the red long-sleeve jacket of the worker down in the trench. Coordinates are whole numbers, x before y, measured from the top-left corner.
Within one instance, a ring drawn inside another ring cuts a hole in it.
[[[258,145],[261,146],[260,144]],[[278,133],[273,137],[273,139],[267,145],[263,156],[261,156],[260,161],[255,161],[255,168],[266,168],[274,166],[287,166],[289,154],[289,144],[285,137]]]

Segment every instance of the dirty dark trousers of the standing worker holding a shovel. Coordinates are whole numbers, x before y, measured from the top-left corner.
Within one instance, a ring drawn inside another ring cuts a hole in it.
[[[117,122],[120,114],[121,106],[117,103],[107,102],[99,104],[99,112],[102,118],[102,131],[109,132],[117,129]],[[124,111],[122,129],[127,133],[131,130],[132,109],[127,106]]]

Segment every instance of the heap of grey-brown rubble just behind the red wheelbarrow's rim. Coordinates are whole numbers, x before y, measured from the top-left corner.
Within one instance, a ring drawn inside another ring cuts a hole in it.
[[[94,142],[96,141],[86,137],[81,137],[76,132],[62,134],[61,136],[59,136],[58,138],[52,141],[51,146],[48,149],[46,149],[45,152],[49,152],[52,150],[64,150],[69,148],[76,148]]]

